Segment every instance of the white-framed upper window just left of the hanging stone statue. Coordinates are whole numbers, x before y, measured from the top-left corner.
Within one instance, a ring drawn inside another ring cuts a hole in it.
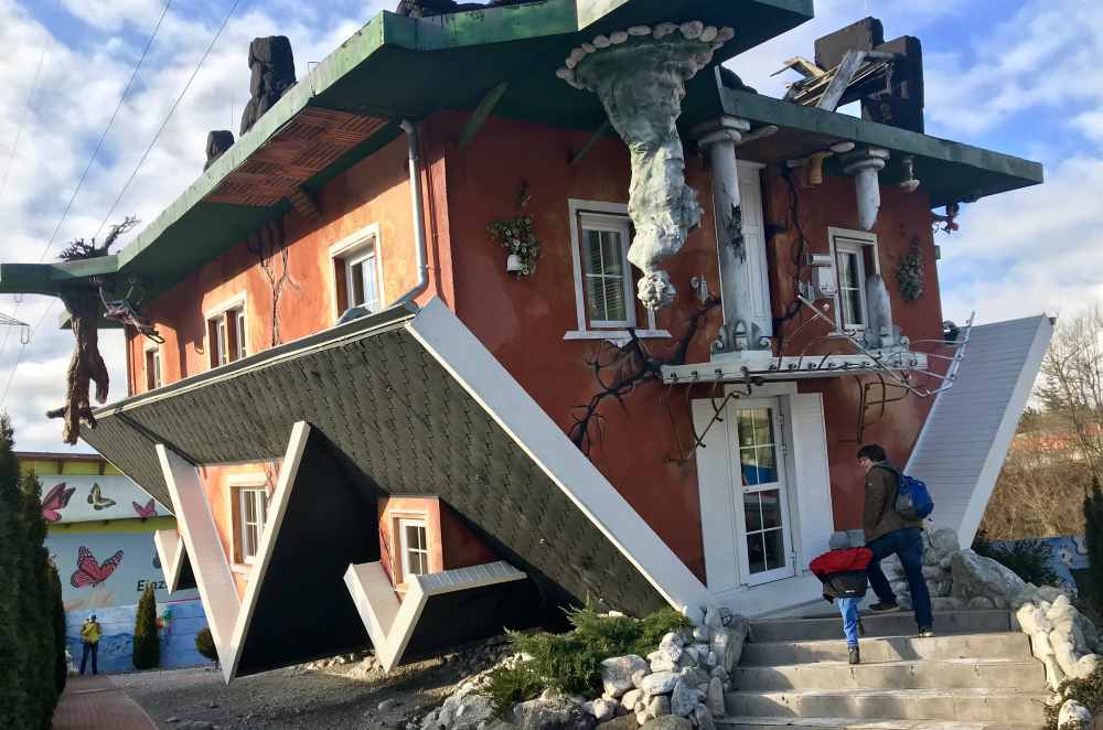
[[[575,276],[575,312],[577,329],[568,330],[564,340],[609,340],[623,343],[629,340],[628,331],[636,326],[635,286],[632,282],[632,265],[628,261],[628,248],[632,243],[631,221],[628,217],[628,205],[624,203],[604,203],[600,201],[583,201],[569,198],[567,201],[570,223],[570,257]],[[623,235],[624,253],[624,294],[628,303],[628,320],[624,322],[590,321],[586,311],[586,288],[582,276],[582,229],[580,222],[586,221],[598,230],[617,230]],[[636,329],[639,337],[670,337],[666,330],[657,329],[655,312],[647,310],[645,329]]]

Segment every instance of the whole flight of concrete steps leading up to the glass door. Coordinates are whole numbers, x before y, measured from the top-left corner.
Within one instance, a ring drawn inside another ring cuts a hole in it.
[[[1037,730],[1046,673],[1007,611],[863,616],[861,664],[847,664],[837,615],[757,621],[732,672],[722,730]]]

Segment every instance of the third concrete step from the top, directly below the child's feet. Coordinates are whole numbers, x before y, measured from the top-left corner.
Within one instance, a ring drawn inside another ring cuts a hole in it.
[[[741,691],[791,689],[1026,689],[1046,685],[1036,659],[949,659],[882,662],[850,666],[842,662],[772,667],[739,666],[732,686]]]

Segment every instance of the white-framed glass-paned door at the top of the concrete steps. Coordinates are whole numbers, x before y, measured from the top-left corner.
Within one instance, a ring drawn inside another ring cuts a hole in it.
[[[741,582],[757,586],[796,575],[785,441],[777,398],[733,400],[728,406],[731,496]]]

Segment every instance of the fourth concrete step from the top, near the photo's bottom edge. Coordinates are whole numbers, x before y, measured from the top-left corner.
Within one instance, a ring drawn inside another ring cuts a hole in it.
[[[729,717],[953,721],[966,718],[973,722],[1041,726],[1048,697],[1041,691],[1008,689],[831,689],[733,691],[726,695],[725,704]]]

